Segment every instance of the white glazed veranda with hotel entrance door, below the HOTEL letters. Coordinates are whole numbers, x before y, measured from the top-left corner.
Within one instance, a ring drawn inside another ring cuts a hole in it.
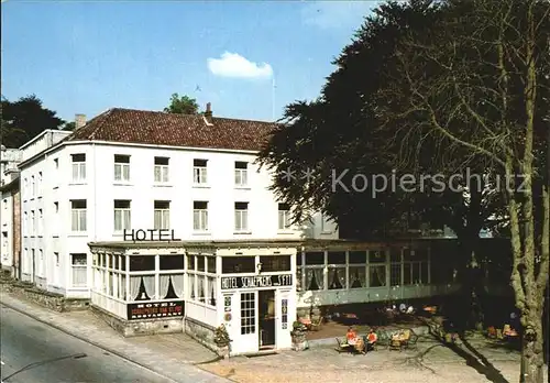
[[[128,320],[123,326],[148,321],[155,332],[184,326],[194,336],[210,333],[201,339],[210,343],[212,329],[224,325],[232,354],[289,349],[298,243],[90,243],[91,304]]]

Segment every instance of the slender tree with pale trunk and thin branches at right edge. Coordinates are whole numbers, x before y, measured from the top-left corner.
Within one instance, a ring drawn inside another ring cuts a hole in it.
[[[396,50],[399,76],[381,110],[405,147],[437,140],[464,161],[504,175],[512,286],[525,328],[521,381],[542,382],[542,302],[548,286],[548,1],[451,3],[429,33],[409,33]],[[457,11],[458,10],[458,11]]]

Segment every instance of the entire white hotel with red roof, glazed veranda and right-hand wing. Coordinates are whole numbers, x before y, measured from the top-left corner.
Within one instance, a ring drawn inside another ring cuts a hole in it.
[[[272,123],[213,118],[209,106],[76,122],[21,147],[22,277],[91,298],[124,335],[185,329],[211,343],[224,324],[234,354],[282,349],[300,307],[452,291],[430,281],[429,250],[334,241],[320,215],[289,226],[254,163]],[[176,240],[124,238],[147,229]]]

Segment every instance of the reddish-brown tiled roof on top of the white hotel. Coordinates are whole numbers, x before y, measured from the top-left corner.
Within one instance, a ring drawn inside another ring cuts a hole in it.
[[[66,141],[111,141],[154,145],[260,151],[275,123],[113,108],[95,117]]]

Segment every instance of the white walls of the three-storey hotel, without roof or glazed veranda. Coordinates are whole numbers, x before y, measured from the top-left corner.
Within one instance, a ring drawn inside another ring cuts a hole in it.
[[[279,225],[284,212],[254,152],[92,141],[55,145],[62,136],[46,133],[22,147],[22,272],[43,288],[89,297],[87,243],[122,241],[123,229],[163,228],[180,240],[204,241],[305,234]],[[34,150],[48,143],[54,146]],[[333,223],[323,225],[306,232],[338,238]]]

